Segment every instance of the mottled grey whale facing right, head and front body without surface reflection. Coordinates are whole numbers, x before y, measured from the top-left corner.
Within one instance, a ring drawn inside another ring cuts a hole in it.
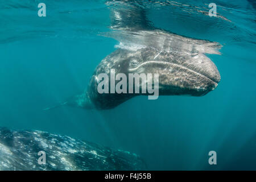
[[[101,82],[98,76],[104,73],[111,77],[111,70],[115,71],[115,76],[122,73],[127,78],[129,75],[141,75],[141,73],[144,75],[151,74],[152,77],[158,74],[159,96],[204,96],[214,90],[220,81],[220,73],[216,65],[203,53],[187,54],[176,51],[158,51],[150,47],[135,51],[117,49],[106,56],[97,66],[88,89],[84,93],[84,96],[89,98],[90,103],[94,104],[96,109],[112,109],[132,97],[152,95],[150,93],[129,93],[129,87],[135,88],[136,86],[134,85],[135,82],[133,85],[129,85],[128,80],[126,93],[110,93],[111,91],[98,93],[97,88]],[[141,80],[139,84],[141,90],[143,84],[152,84],[152,88],[155,87],[155,81],[148,79],[144,83]],[[117,85],[117,81],[115,85]]]

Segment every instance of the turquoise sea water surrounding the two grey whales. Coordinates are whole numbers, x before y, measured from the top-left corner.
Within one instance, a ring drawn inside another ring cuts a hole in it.
[[[38,3],[47,6],[39,18]],[[0,0],[0,126],[65,134],[131,151],[148,169],[256,169],[255,2],[138,1],[156,28],[218,42],[220,71],[203,97],[135,97],[112,110],[43,109],[81,93],[119,44],[105,1]],[[217,152],[217,165],[208,152]]]

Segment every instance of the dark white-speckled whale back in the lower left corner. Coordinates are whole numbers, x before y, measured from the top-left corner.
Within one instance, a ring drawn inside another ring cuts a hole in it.
[[[39,151],[46,164],[38,164]],[[43,131],[0,128],[0,170],[144,170],[136,154]]]

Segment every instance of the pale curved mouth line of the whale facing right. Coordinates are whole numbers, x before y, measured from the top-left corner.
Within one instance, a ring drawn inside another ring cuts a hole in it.
[[[150,64],[150,63],[153,63],[153,64],[175,65],[175,66],[180,67],[180,68],[188,69],[189,71],[194,72],[194,73],[196,73],[197,75],[200,75],[200,76],[203,76],[203,77],[208,78],[210,81],[214,82],[214,85],[215,85],[216,87],[218,86],[218,81],[215,81],[215,80],[213,80],[212,78],[210,78],[210,77],[208,77],[208,76],[206,76],[206,75],[203,75],[203,74],[200,73],[200,72],[197,72],[197,71],[195,71],[195,70],[193,70],[193,69],[191,69],[191,68],[185,67],[184,65],[175,64],[175,63],[168,63],[168,62],[166,62],[166,61],[146,61],[146,62],[144,62],[144,63],[138,65],[138,66],[135,67],[135,68],[130,68],[129,71],[131,71],[131,72],[136,71],[137,69],[139,69],[139,68],[142,67],[143,65],[147,65],[147,64]],[[215,87],[215,88],[216,88],[216,87]]]

